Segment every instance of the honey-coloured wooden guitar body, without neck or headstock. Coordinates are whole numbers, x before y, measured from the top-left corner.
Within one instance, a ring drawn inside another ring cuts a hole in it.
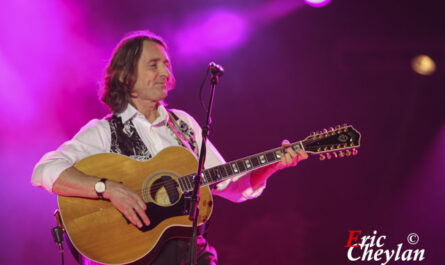
[[[79,161],[75,167],[85,174],[123,182],[141,194],[151,223],[139,229],[109,201],[59,195],[62,221],[73,248],[96,263],[128,264],[154,259],[170,238],[190,237],[192,222],[178,177],[196,172],[197,164],[183,147],[166,148],[144,162],[113,153]],[[198,225],[202,226],[213,209],[208,186],[200,189],[199,208]]]

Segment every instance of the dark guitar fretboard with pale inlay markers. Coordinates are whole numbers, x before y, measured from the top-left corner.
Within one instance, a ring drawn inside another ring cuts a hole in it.
[[[302,141],[295,142],[291,144],[290,147],[294,150],[304,150]],[[283,147],[278,147],[259,154],[247,156],[238,160],[234,160],[232,162],[228,162],[226,164],[206,169],[202,172],[201,186],[218,183],[235,175],[246,173],[254,169],[278,162],[281,159],[281,155],[284,153],[284,149],[285,148]],[[183,192],[189,192],[193,190],[194,175],[195,174],[191,174],[178,178],[179,185],[181,186]]]

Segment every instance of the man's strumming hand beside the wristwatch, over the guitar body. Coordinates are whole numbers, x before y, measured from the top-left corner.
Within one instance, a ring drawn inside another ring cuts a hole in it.
[[[108,179],[106,185],[107,189],[104,192],[104,198],[109,199],[114,207],[116,207],[116,209],[118,209],[132,224],[139,228],[142,227],[142,222],[138,217],[139,215],[145,225],[150,225],[150,219],[148,219],[148,216],[145,213],[147,205],[141,196],[124,184],[113,180]]]

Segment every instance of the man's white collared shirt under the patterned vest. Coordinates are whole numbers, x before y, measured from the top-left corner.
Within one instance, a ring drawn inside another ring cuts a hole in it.
[[[201,127],[196,120],[184,111],[172,111],[193,129],[198,150],[201,150]],[[150,123],[143,114],[130,104],[122,113],[118,114],[122,123],[129,119],[132,120],[142,142],[147,146],[153,157],[168,146],[178,146],[176,136],[172,134],[168,126],[169,115],[167,110],[164,106],[159,105],[158,112],[159,117],[153,123]],[[109,153],[110,147],[111,130],[109,122],[105,119],[93,119],[82,127],[73,139],[63,143],[57,150],[46,153],[40,159],[33,171],[32,184],[43,187],[52,193],[54,182],[65,169],[88,156]],[[210,141],[207,141],[206,147],[205,168],[225,163],[224,158]],[[218,183],[217,189],[212,192],[231,201],[241,202],[258,197],[264,188],[261,187],[254,191],[250,185],[250,174],[247,174],[238,175]]]

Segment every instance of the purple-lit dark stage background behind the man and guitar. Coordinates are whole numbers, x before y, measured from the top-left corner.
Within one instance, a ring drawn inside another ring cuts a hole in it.
[[[33,166],[106,114],[103,68],[138,29],[167,40],[177,79],[167,101],[199,121],[206,66],[224,66],[210,137],[226,160],[337,124],[362,133],[358,156],[311,157],[256,200],[216,198],[208,238],[220,264],[380,264],[347,259],[349,230],[386,235],[383,249],[425,249],[409,264],[443,264],[444,11],[440,1],[2,1],[0,264],[59,264],[56,196],[31,186]],[[418,54],[434,74],[411,69]]]

